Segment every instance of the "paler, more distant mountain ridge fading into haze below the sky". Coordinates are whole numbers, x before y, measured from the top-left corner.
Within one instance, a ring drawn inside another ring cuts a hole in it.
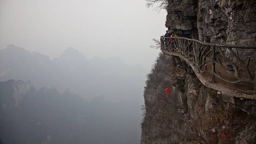
[[[35,88],[66,88],[85,99],[104,95],[111,101],[138,100],[142,94],[147,69],[129,66],[120,58],[87,59],[74,48],[68,48],[59,58],[8,45],[0,50],[0,81],[30,80]]]

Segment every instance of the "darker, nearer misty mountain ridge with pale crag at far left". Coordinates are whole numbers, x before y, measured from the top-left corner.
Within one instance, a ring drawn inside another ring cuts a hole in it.
[[[79,95],[30,82],[0,82],[0,144],[136,144],[139,117],[125,102]],[[131,107],[130,107],[131,106]],[[137,116],[137,117],[136,117]]]

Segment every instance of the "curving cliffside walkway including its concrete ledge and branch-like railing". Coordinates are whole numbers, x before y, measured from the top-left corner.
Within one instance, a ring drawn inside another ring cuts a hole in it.
[[[227,96],[226,101],[233,102],[233,96],[256,99],[256,61],[250,56],[240,57],[237,51],[255,53],[256,47],[219,45],[182,37],[160,40],[163,53],[186,61],[204,86],[220,91]]]

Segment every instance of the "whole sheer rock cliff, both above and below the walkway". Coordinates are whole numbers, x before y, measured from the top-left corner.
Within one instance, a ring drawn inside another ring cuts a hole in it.
[[[168,0],[165,25],[178,37],[255,46],[256,1]],[[251,56],[255,66],[255,50],[234,52],[242,60]],[[147,78],[141,144],[256,143],[255,100],[224,102],[221,92],[205,87],[186,62],[163,53]]]

